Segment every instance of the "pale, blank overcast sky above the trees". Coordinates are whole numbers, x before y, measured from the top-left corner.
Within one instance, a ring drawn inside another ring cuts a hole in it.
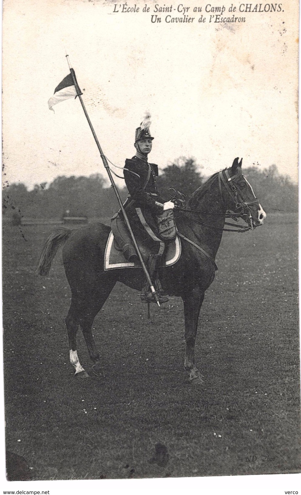
[[[200,24],[200,14],[190,24],[167,24],[164,14],[152,24],[150,14],[113,13],[113,2],[4,0],[5,180],[32,187],[57,175],[105,175],[79,100],[48,109],[69,72],[65,49],[100,145],[119,166],[149,109],[150,161],[160,169],[194,156],[210,175],[239,156],[297,180],[298,3],[283,5],[245,14],[244,24]]]

